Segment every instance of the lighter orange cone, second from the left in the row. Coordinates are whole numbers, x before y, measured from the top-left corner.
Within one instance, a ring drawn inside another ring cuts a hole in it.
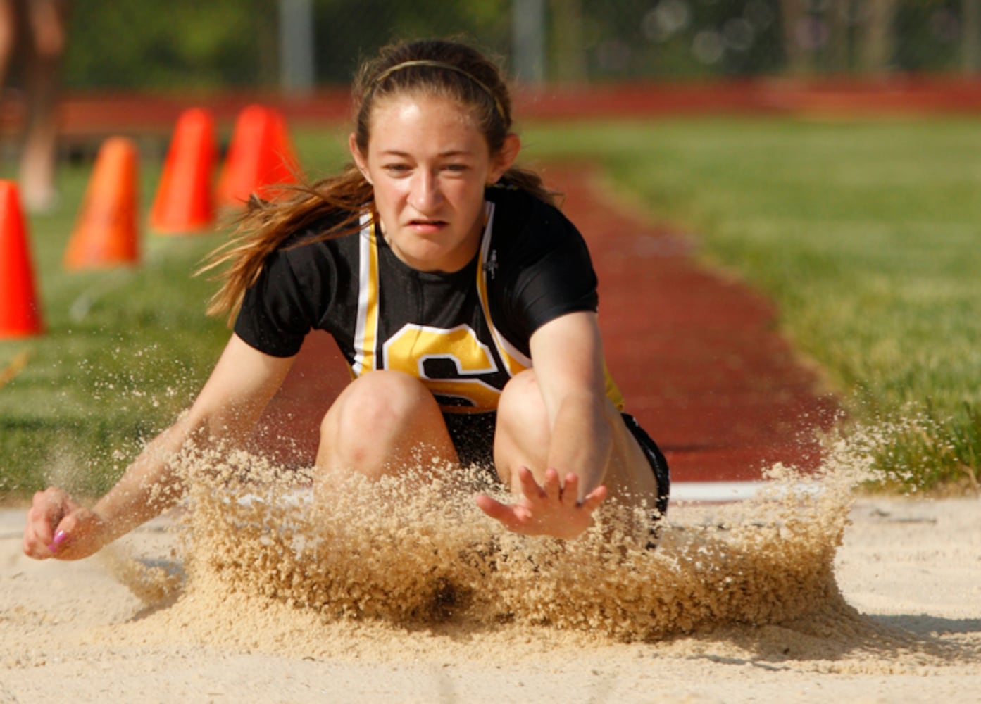
[[[110,137],[95,159],[65,267],[114,267],[138,259],[136,145],[126,137]]]

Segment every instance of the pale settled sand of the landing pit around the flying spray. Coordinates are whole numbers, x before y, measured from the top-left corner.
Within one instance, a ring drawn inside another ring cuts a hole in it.
[[[706,511],[711,523],[711,507],[673,506],[671,524],[703,525]],[[21,553],[23,512],[5,510],[0,701],[978,701],[981,501],[862,498],[847,511],[830,558],[840,595],[782,621],[623,642],[324,620],[276,598],[209,601],[203,587],[148,605],[119,565],[173,569],[168,521],[114,546],[115,566],[108,553],[35,562]]]

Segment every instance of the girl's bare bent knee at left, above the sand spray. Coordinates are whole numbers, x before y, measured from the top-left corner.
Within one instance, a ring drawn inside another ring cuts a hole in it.
[[[325,477],[336,472],[368,478],[425,474],[456,462],[433,394],[419,379],[400,372],[358,377],[337,396],[321,424],[317,468]]]

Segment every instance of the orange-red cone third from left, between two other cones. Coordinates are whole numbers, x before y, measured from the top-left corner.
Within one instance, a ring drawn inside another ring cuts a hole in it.
[[[150,210],[150,228],[181,234],[209,228],[215,220],[211,178],[218,151],[215,119],[201,108],[181,113]]]

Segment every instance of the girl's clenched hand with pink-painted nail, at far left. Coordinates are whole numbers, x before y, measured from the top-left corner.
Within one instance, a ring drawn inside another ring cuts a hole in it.
[[[34,494],[27,511],[24,554],[35,560],[80,560],[102,547],[106,528],[98,514],[52,486]]]

